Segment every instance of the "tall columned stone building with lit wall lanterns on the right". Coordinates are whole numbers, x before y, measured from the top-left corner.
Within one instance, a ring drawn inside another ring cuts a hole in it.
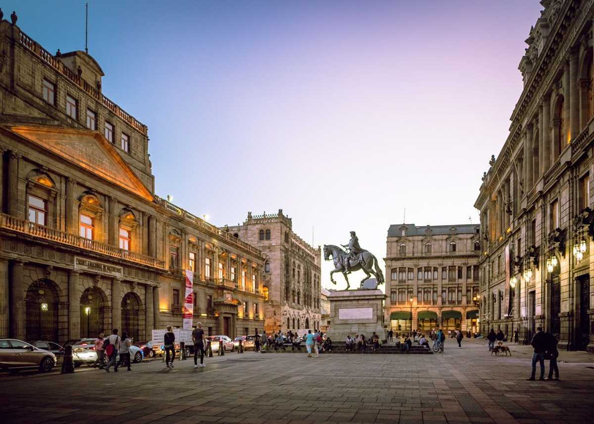
[[[545,7],[520,60],[510,133],[483,176],[481,328],[542,326],[561,349],[594,352],[593,1]],[[592,130],[590,129],[592,128]]]

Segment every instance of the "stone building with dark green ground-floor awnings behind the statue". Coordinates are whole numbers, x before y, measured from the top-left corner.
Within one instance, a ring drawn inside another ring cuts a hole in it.
[[[390,226],[384,258],[388,328],[477,330],[479,234],[472,224]]]

